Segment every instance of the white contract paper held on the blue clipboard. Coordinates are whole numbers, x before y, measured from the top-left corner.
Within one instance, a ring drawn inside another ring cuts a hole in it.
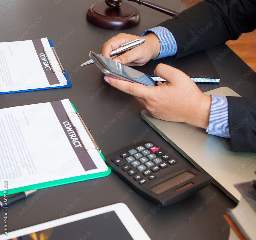
[[[47,38],[41,39],[41,46],[40,50],[37,47],[41,53],[37,53],[33,40],[0,43],[0,92],[67,85],[67,80],[61,71],[53,73],[49,66],[44,70],[40,56],[44,56],[43,48],[50,47]],[[56,58],[53,54],[49,55],[57,68]],[[47,59],[44,64],[49,65],[46,61]],[[58,82],[49,83],[46,70],[56,75]]]

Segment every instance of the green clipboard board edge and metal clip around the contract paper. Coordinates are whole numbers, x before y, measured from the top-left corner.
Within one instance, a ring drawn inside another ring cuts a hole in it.
[[[74,108],[72,103],[71,103],[71,105]],[[75,108],[74,108],[74,111],[75,112],[73,112],[72,114],[76,113],[78,115],[79,119],[82,122],[82,125],[86,129],[89,137],[91,138],[91,140],[92,140],[92,142],[94,144],[94,148],[87,149],[86,146],[82,143],[84,149],[86,151],[90,151],[92,149],[97,149],[97,151],[99,152],[101,158],[105,162],[105,158],[102,155],[102,152],[101,152],[99,146],[97,145],[97,143],[95,142],[94,138],[92,137],[90,129],[86,126],[86,124],[84,123],[84,121],[81,118],[80,114],[76,111]],[[70,119],[70,122],[72,123],[72,120],[69,117],[69,114],[71,114],[71,113],[68,113],[67,116]],[[32,185],[28,185],[28,186],[19,187],[19,188],[13,188],[13,189],[8,189],[8,186],[7,186],[7,192],[5,192],[6,191],[5,189],[3,191],[0,191],[0,196],[4,196],[6,193],[8,193],[8,195],[9,195],[9,194],[20,193],[20,192],[29,191],[29,190],[43,189],[43,188],[48,188],[48,187],[54,187],[54,186],[59,186],[59,185],[63,185],[63,184],[73,183],[73,182],[85,181],[85,180],[90,180],[90,179],[95,179],[95,178],[102,178],[102,177],[108,176],[110,174],[110,172],[111,172],[111,169],[108,167],[107,171],[99,172],[99,173],[91,173],[91,174],[79,175],[79,176],[75,176],[75,177],[68,177],[68,178],[64,178],[64,179],[47,181],[47,182],[32,184]]]

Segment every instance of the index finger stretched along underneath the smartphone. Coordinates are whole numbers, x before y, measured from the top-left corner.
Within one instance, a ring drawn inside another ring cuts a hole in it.
[[[143,99],[145,99],[145,97],[151,92],[151,88],[154,88],[152,86],[145,86],[141,83],[132,83],[125,80],[116,79],[108,75],[105,75],[104,79],[111,86],[133,96],[142,97]]]

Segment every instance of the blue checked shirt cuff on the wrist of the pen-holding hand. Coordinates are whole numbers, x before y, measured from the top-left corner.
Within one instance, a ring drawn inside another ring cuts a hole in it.
[[[157,58],[164,58],[167,56],[174,56],[178,52],[177,42],[172,33],[165,27],[155,27],[144,31],[141,37],[147,35],[149,31],[154,32],[160,41],[160,53]]]

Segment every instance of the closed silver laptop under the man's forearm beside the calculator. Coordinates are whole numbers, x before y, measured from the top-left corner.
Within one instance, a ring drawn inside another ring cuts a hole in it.
[[[240,96],[227,87],[205,94]],[[143,110],[141,117],[201,172],[209,174],[216,186],[238,203],[240,192],[234,184],[256,178],[256,152],[233,152],[229,139],[209,135],[205,129],[181,122],[152,117]]]

